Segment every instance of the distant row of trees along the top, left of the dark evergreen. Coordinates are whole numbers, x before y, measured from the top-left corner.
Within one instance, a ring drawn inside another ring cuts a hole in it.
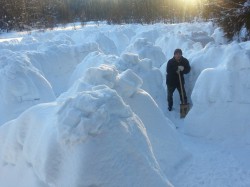
[[[1,0],[0,30],[54,27],[75,21],[154,23],[189,21],[183,0]],[[181,6],[180,6],[181,4]],[[198,10],[198,7],[197,7]]]

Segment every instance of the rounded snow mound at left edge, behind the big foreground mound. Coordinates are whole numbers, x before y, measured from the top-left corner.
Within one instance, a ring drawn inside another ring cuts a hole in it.
[[[16,118],[27,108],[55,99],[50,83],[27,55],[0,51],[0,124]]]

